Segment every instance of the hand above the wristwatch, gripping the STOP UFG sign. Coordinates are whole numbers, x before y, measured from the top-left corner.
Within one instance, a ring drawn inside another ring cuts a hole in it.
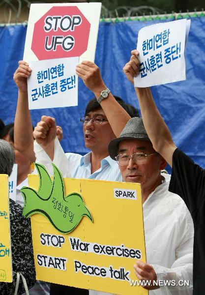
[[[84,60],[76,66],[77,75],[92,92],[106,89],[99,67],[91,61]]]

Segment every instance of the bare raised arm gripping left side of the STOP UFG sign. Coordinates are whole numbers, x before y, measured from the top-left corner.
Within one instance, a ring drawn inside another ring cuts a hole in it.
[[[14,121],[15,148],[30,159],[35,161],[33,151],[33,129],[29,112],[27,78],[31,69],[26,61],[20,60],[19,67],[14,73],[14,81],[18,87],[18,102]]]

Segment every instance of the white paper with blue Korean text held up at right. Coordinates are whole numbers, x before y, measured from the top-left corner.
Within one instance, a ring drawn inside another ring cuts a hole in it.
[[[140,73],[135,87],[150,87],[186,79],[184,49],[190,20],[145,27],[139,31]]]

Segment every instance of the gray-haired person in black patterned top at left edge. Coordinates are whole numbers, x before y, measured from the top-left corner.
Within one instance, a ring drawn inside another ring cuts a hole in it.
[[[4,140],[0,140],[0,174],[10,176],[14,164],[14,151]],[[30,219],[22,216],[22,207],[13,200],[9,200],[10,230],[13,282],[0,282],[1,295],[13,295],[16,287],[17,272],[20,271],[26,278],[28,288],[35,283],[35,266],[31,238]],[[18,295],[25,292],[23,281],[20,280]]]

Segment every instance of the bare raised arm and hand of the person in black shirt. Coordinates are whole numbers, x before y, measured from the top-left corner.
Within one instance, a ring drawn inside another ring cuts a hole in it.
[[[134,77],[137,76],[137,65],[139,63],[137,50],[131,52],[130,61],[127,62],[123,68],[127,79],[134,84]],[[153,148],[160,153],[163,158],[172,167],[172,156],[176,149],[176,145],[172,139],[172,135],[160,115],[157,106],[149,88],[135,88],[140,109],[142,113],[143,122],[149,139],[152,142]]]

